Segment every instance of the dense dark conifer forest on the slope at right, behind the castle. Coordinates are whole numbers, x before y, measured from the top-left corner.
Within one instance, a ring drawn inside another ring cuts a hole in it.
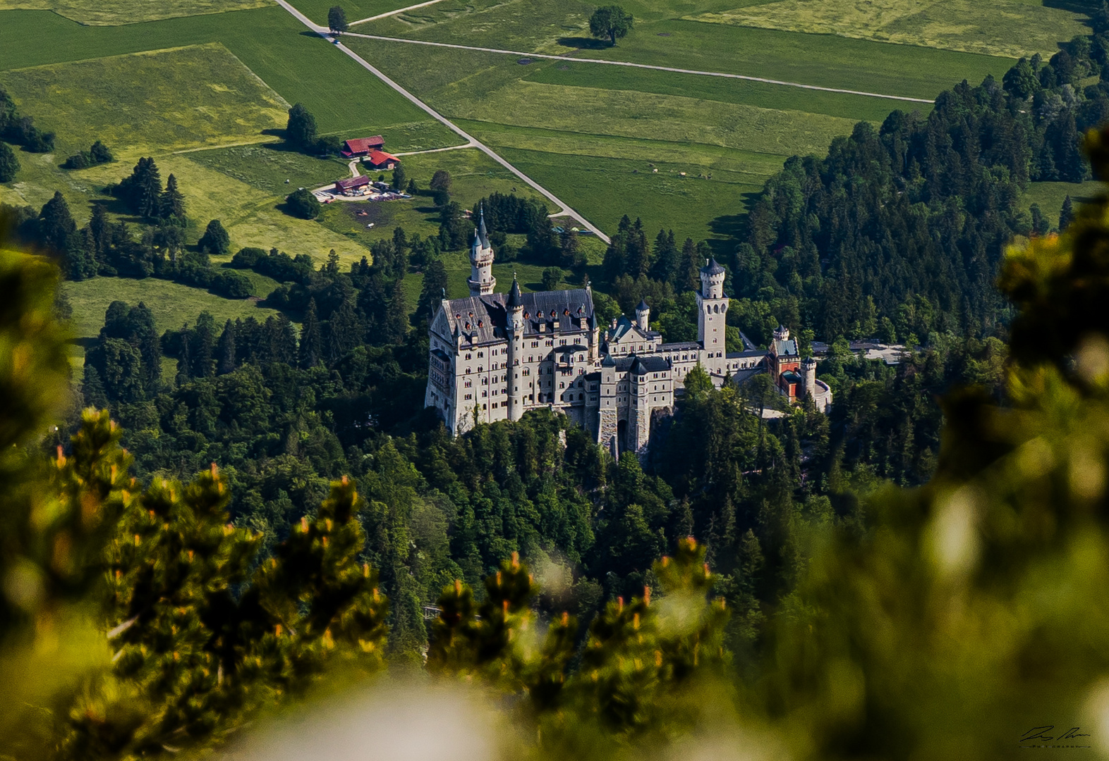
[[[1050,61],[1021,59],[1003,82],[942,93],[927,117],[897,111],[879,130],[858,124],[824,158],[787,161],[751,209],[734,288],[780,311],[796,300],[817,336],[894,338],[922,309],[932,330],[1004,333],[1003,249],[1056,222],[1019,208],[1020,193],[1087,178],[1081,134],[1109,119],[1105,7],[1091,25]]]

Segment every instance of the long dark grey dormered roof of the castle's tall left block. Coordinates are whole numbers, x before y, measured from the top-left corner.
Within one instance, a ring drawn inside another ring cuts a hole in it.
[[[508,323],[510,296],[490,294],[446,301],[444,310],[450,333],[454,335],[457,330],[462,336],[474,336],[475,343],[490,343],[502,339]],[[593,325],[593,297],[582,288],[520,294],[520,306],[523,308],[523,335],[529,338],[582,333]],[[587,319],[584,329],[578,325],[582,317]],[[556,319],[559,322],[557,329],[553,327]],[[545,323],[543,333],[539,332],[540,323]]]

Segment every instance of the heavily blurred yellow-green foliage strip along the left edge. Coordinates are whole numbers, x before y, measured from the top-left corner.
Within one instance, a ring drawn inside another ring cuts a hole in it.
[[[52,316],[55,269],[0,249],[0,752],[44,758],[29,705],[49,703],[108,649],[81,616],[99,551],[126,502],[120,462],[53,465],[33,451],[65,400],[64,331]],[[87,607],[87,606],[85,606]]]

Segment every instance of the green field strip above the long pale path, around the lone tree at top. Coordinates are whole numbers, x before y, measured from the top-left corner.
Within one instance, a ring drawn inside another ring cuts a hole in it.
[[[363,24],[356,31],[720,71],[929,100],[963,79],[977,83],[987,74],[1000,78],[1013,65],[1009,58],[703,23],[659,13],[637,22],[620,44],[609,48],[589,38],[588,19],[593,8],[579,0],[475,0],[466,6],[444,0],[413,11],[419,17],[390,17]],[[1069,30],[1058,31],[1064,34]]]

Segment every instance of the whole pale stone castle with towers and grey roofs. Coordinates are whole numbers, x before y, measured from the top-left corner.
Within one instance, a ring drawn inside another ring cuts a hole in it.
[[[716,385],[769,372],[791,401],[807,394],[817,409],[832,403],[831,389],[816,380],[816,361],[802,360],[786,328],[774,331],[769,351],[746,337],[744,351],[725,350],[725,271],[714,259],[701,268],[698,340],[679,343],[664,343],[651,330],[643,301],[634,320],[598,325],[588,285],[523,294],[513,277],[507,294],[495,294],[492,263],[481,214],[470,247],[470,295],[444,299],[428,329],[424,404],[438,410],[451,433],[549,408],[614,452],[643,453],[652,415],[672,412],[675,392],[698,364]]]

